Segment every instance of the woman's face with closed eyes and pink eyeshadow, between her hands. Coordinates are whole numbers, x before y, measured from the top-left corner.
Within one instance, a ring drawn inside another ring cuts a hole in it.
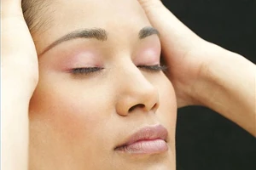
[[[30,169],[174,170],[175,94],[139,3],[55,0],[46,8],[49,23],[33,34],[40,75]]]

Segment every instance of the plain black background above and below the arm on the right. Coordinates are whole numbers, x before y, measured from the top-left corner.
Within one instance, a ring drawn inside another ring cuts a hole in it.
[[[256,63],[256,0],[162,2],[199,36]],[[176,138],[177,170],[256,170],[256,139],[207,108],[179,109]]]

